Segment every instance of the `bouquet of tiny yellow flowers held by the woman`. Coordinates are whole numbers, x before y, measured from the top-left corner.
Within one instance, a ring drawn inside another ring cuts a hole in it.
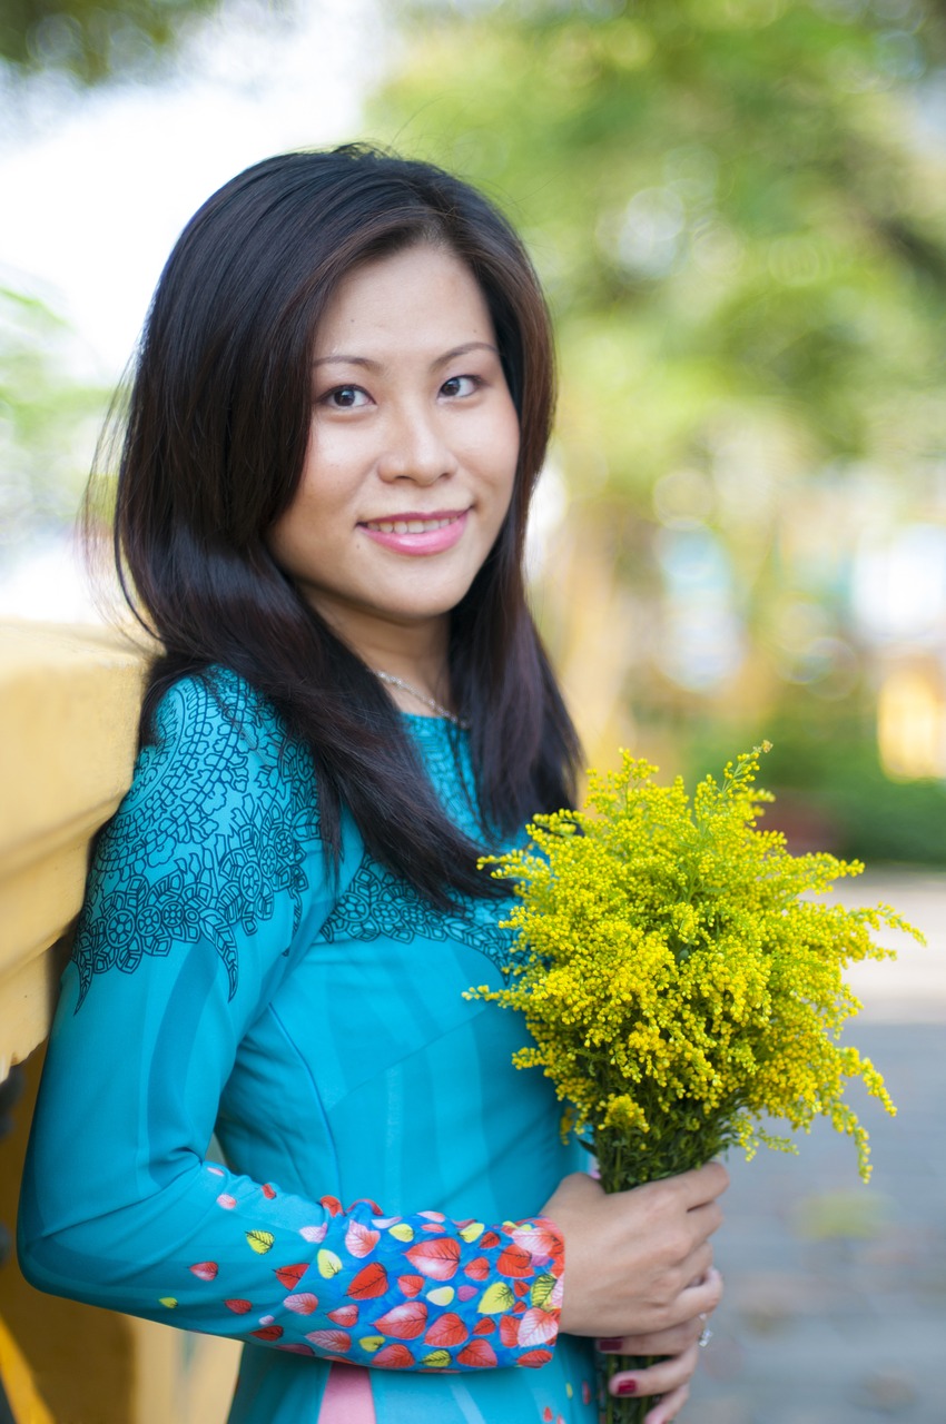
[[[533,1042],[513,1061],[551,1078],[563,1132],[596,1153],[608,1192],[732,1145],[795,1151],[762,1119],[808,1131],[818,1115],[853,1138],[866,1180],[846,1082],[896,1111],[873,1064],[838,1041],[861,1008],[842,970],[892,957],[872,940],[882,924],[922,936],[888,906],[811,897],[863,866],[792,856],[758,829],[774,799],[754,785],[768,749],[729,763],[722,785],[708,776],[692,802],[682,780],[657,786],[657,768],[623,753],[620,772],[590,773],[583,810],[537,816],[529,849],[484,862],[516,883],[506,926],[519,934],[506,987],[472,993],[526,1015]],[[628,1367],[608,1357],[608,1377]],[[608,1424],[631,1424],[648,1404],[607,1396],[605,1408]]]

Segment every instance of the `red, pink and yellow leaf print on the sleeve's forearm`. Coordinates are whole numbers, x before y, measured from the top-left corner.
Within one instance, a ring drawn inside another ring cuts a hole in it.
[[[549,1223],[470,1230],[469,1222],[439,1212],[385,1218],[369,1202],[345,1209],[326,1198],[313,1208],[285,1193],[261,1199],[255,1188],[232,1190],[242,1206],[254,1205],[254,1218],[239,1209],[219,1213],[215,1219],[234,1233],[232,1249],[187,1267],[189,1300],[184,1284],[178,1290],[187,1310],[198,1289],[227,1284],[219,1297],[228,1334],[242,1327],[246,1341],[378,1370],[537,1368],[551,1358],[563,1252]],[[442,1235],[423,1236],[429,1225]],[[251,1267],[254,1257],[259,1265]],[[255,1270],[259,1284],[264,1269],[269,1284],[248,1289],[246,1272]],[[204,1319],[201,1329],[208,1329]]]

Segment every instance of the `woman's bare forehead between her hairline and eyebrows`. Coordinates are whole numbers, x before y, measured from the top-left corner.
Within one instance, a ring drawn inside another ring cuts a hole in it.
[[[316,356],[370,345],[494,342],[486,296],[452,248],[429,242],[363,262],[338,285],[318,323]]]

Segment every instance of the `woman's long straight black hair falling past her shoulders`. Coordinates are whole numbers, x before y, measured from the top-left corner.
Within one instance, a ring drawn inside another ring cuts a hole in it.
[[[302,477],[319,318],[356,266],[422,242],[449,248],[490,310],[519,413],[511,504],[453,609],[450,688],[470,723],[484,827],[570,805],[577,739],[523,582],[529,500],[554,403],[549,315],[506,219],[442,169],[372,148],[269,158],[197,212],[148,313],[118,476],[115,557],[157,635],[142,738],[161,693],[231,668],[312,750],[338,857],[348,806],[368,849],[435,904],[490,894],[477,847],[446,819],[393,702],[306,604],[266,538]]]

